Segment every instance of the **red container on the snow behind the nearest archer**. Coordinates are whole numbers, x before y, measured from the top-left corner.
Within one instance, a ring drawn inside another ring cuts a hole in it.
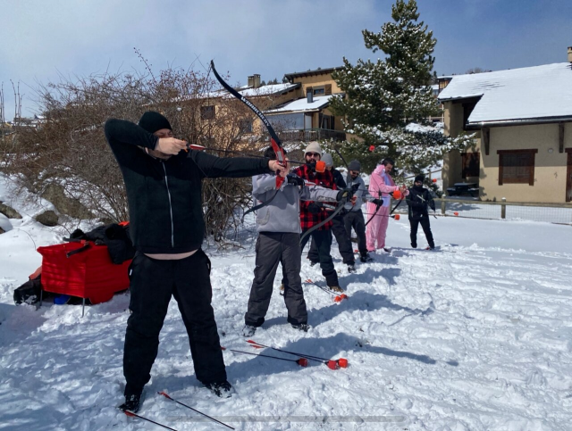
[[[106,245],[91,245],[87,250],[66,253],[85,243],[64,243],[38,247],[42,255],[42,287],[46,292],[86,298],[91,303],[105,303],[115,292],[129,287],[128,268],[131,261],[115,265]]]

